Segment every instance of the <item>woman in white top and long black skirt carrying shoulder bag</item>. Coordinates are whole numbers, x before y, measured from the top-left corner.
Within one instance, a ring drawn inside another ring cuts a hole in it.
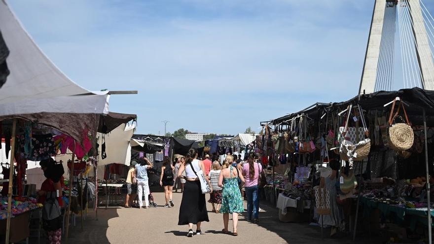
[[[200,181],[197,176],[197,172],[202,170],[205,172],[204,164],[197,158],[196,149],[192,148],[185,155],[185,164],[181,165],[178,171],[178,177],[186,179],[184,185],[184,191],[182,193],[182,202],[180,207],[180,216],[178,225],[188,224],[188,234],[187,237],[193,236],[193,225],[196,225],[196,235],[201,234],[200,225],[202,221],[209,222],[208,211],[205,201],[205,194],[202,194],[200,187]],[[185,171],[185,176],[182,173]],[[211,182],[207,178],[207,182],[210,185],[211,192],[213,188],[211,187]]]

